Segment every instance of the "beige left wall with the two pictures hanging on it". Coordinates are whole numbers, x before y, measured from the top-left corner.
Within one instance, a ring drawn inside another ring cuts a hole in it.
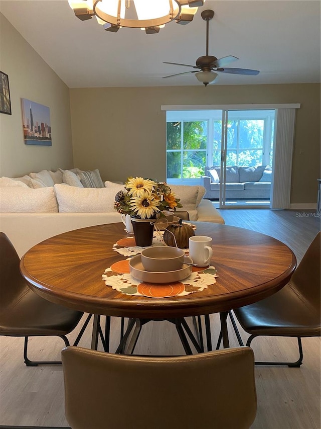
[[[0,176],[72,167],[69,89],[2,14],[0,70],[9,75],[12,108],[0,113]],[[24,143],[21,98],[50,108],[52,146]]]

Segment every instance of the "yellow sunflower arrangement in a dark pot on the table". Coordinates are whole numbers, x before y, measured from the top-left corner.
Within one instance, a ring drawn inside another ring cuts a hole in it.
[[[154,224],[181,208],[180,198],[166,182],[129,177],[115,195],[114,209],[130,216],[137,246],[150,246]]]

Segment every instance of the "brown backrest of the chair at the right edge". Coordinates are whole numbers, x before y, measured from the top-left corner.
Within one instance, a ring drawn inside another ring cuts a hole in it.
[[[309,245],[289,283],[320,314],[321,232],[318,232]]]

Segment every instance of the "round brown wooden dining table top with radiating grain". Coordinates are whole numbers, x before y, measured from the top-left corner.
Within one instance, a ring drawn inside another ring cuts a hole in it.
[[[193,222],[196,235],[213,238],[219,277],[202,292],[171,298],[125,295],[106,286],[105,269],[126,259],[112,246],[128,236],[123,223],[82,228],[49,238],[21,260],[21,272],[43,298],[84,312],[135,318],[171,318],[227,311],[281,289],[296,259],[282,242],[258,232],[209,222]]]

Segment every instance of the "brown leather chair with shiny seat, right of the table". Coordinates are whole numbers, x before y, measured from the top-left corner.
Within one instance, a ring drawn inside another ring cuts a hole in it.
[[[247,346],[258,335],[297,337],[299,359],[296,362],[255,362],[256,365],[299,367],[303,360],[301,337],[320,336],[320,242],[321,232],[309,245],[291,280],[279,292],[233,310],[242,328],[251,334]],[[242,346],[239,335],[238,338]]]

